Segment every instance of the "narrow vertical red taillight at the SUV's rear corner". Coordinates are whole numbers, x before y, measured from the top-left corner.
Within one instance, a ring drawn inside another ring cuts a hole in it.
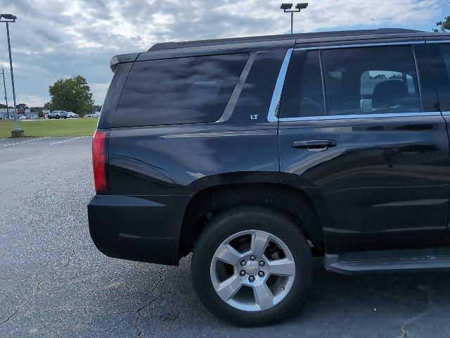
[[[94,184],[97,194],[106,191],[106,139],[108,132],[96,130],[92,138],[92,168],[94,169]]]

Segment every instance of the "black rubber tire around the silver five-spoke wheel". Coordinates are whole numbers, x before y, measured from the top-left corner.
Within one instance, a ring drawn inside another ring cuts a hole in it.
[[[295,279],[290,292],[280,303],[264,311],[242,311],[230,306],[219,297],[211,281],[210,267],[216,249],[233,234],[245,230],[274,234],[288,246],[295,261]],[[195,244],[191,264],[195,292],[206,308],[240,326],[263,326],[283,320],[299,308],[313,275],[311,249],[299,226],[282,213],[257,206],[233,208],[214,217]]]

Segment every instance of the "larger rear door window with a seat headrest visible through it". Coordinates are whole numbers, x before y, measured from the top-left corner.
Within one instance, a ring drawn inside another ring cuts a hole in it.
[[[328,115],[421,111],[411,46],[323,50]]]

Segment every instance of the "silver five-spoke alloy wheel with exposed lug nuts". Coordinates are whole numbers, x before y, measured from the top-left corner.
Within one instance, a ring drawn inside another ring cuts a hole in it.
[[[264,311],[280,303],[295,279],[288,246],[262,230],[238,232],[214,253],[210,277],[219,297],[240,311]]]

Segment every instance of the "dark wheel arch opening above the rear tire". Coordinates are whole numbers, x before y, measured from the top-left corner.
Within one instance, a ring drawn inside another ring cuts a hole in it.
[[[243,205],[266,206],[288,215],[299,225],[316,253],[323,253],[323,227],[314,200],[302,189],[280,183],[232,183],[196,192],[181,225],[179,256],[186,256],[208,221],[217,213]]]

